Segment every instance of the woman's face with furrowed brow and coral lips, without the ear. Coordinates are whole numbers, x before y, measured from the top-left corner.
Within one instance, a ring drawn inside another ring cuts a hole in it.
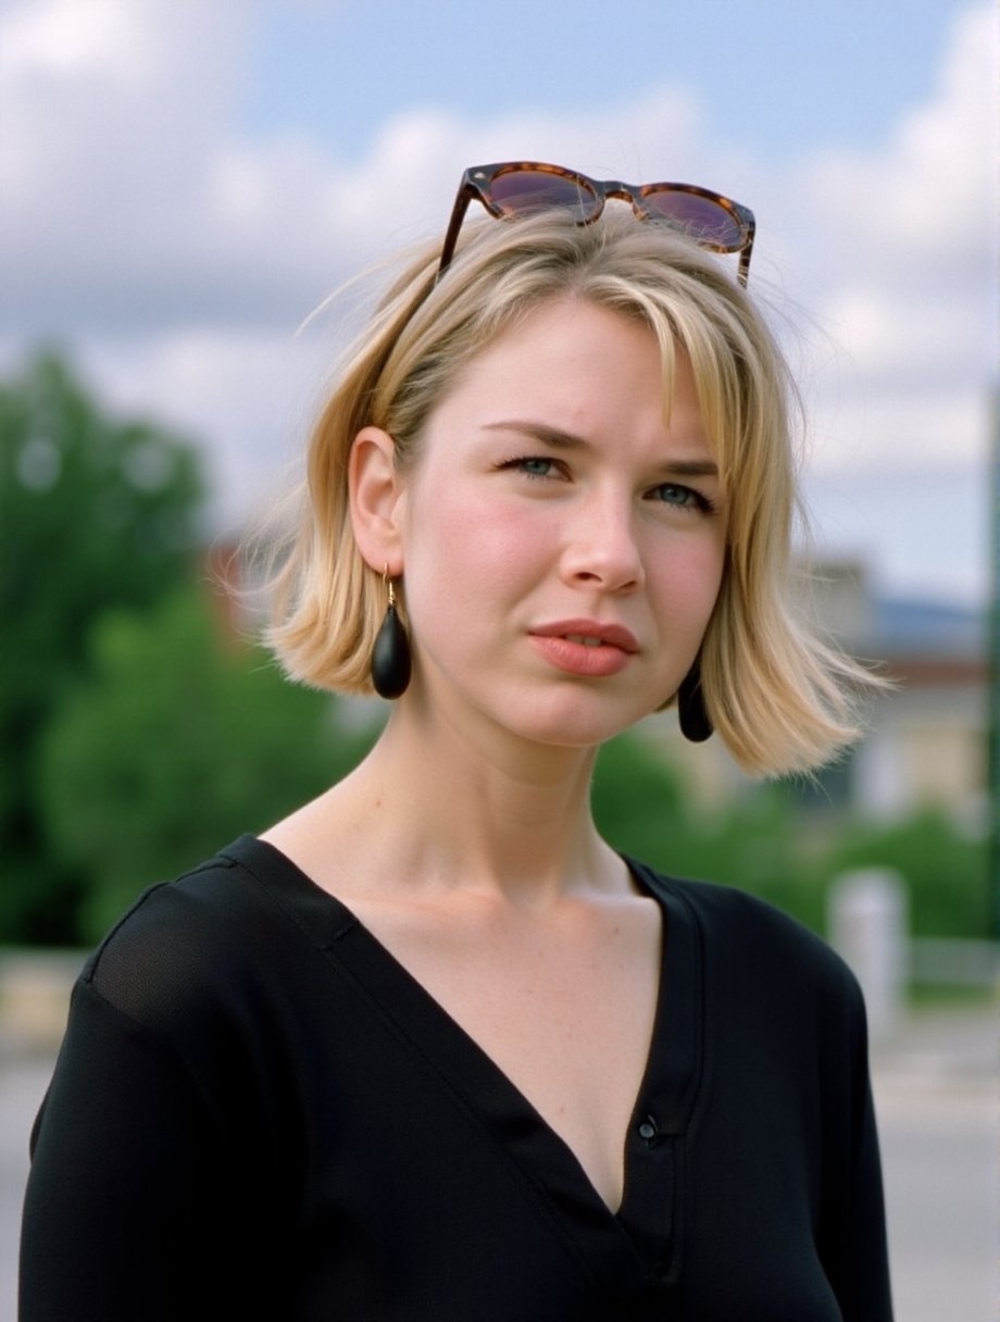
[[[406,480],[415,689],[457,720],[585,747],[678,689],[723,575],[725,498],[679,356],[544,304],[472,361]]]

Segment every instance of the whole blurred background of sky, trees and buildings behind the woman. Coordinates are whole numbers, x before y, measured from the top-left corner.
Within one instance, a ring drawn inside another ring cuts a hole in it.
[[[979,0],[0,0],[0,1315],[79,952],[378,724],[283,683],[225,590],[367,287],[313,313],[506,159],[757,214],[802,553],[898,687],[810,785],[657,718],[596,808],[844,949],[900,1317],[997,1315],[997,45]]]

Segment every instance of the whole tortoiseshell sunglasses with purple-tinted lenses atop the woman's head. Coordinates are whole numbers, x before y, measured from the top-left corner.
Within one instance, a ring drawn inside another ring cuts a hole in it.
[[[440,280],[454,256],[454,245],[469,202],[482,202],[498,219],[546,208],[576,212],[577,225],[590,225],[609,197],[631,202],[641,221],[664,221],[690,234],[712,253],[740,254],[740,284],[746,284],[757,222],[753,212],[711,188],[696,184],[622,184],[608,178],[598,182],[561,165],[539,161],[505,161],[498,165],[470,165],[462,175],[452,219],[444,237]]]

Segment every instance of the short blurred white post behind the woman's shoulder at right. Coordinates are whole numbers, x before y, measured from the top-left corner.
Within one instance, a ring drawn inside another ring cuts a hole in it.
[[[873,1042],[900,1021],[906,992],[906,886],[890,867],[844,873],[830,891],[828,931],[834,948],[861,984]]]

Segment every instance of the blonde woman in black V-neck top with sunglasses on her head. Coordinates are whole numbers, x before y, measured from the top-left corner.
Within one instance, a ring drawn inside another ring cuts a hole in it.
[[[752,242],[687,185],[466,172],[318,422],[279,583],[289,674],[374,686],[384,732],[91,958],[24,1322],[890,1318],[853,978],[588,804],[675,701],[758,773],[856,732],[865,676],[790,587]]]

